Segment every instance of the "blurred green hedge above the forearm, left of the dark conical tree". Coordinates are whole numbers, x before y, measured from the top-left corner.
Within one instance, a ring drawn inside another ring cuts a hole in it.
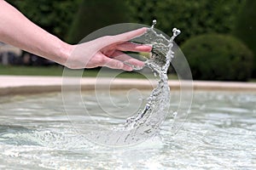
[[[44,30],[64,39],[81,0],[9,0],[8,2]]]

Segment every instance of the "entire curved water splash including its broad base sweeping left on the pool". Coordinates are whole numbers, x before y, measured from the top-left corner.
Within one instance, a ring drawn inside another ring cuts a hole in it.
[[[99,144],[107,145],[129,145],[143,142],[155,135],[162,122],[164,122],[170,106],[170,88],[168,85],[167,71],[171,64],[174,52],[172,51],[173,40],[181,31],[173,28],[173,35],[166,39],[162,34],[154,31],[156,20],[153,20],[151,28],[142,36],[144,43],[153,45],[150,59],[145,61],[146,67],[150,68],[159,82],[147,99],[147,104],[137,115],[126,120],[125,125],[111,129],[92,130],[87,137]],[[132,42],[139,42],[137,38]],[[136,69],[136,68],[135,68]]]

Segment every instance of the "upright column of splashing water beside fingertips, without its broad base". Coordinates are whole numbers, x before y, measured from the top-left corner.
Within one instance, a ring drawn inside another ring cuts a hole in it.
[[[157,34],[156,31],[154,31],[155,24],[156,20],[153,20],[153,25],[144,35],[145,42],[153,45],[152,56],[145,62],[145,66],[149,67],[156,75],[158,75],[160,81],[150,94],[148,103],[143,111],[139,111],[137,116],[128,118],[125,127],[137,127],[138,125],[147,122],[147,120],[149,122],[157,122],[158,120],[158,124],[160,124],[164,121],[166,111],[169,109],[171,96],[170,88],[168,86],[167,71],[172,58],[174,57],[174,52],[172,51],[173,40],[181,33],[181,31],[177,30],[177,28],[173,28],[173,35],[170,40],[167,40],[166,37]],[[152,37],[158,37],[158,39],[155,40]],[[158,128],[158,126],[156,127]]]

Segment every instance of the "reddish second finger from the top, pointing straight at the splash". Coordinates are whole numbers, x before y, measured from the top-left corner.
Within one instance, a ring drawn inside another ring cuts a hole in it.
[[[152,50],[152,46],[137,44],[134,42],[123,42],[116,46],[116,48],[120,51],[133,51],[133,52],[150,52]]]

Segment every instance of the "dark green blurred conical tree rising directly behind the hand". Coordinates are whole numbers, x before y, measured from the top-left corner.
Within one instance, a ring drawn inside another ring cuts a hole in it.
[[[83,0],[68,33],[67,42],[76,43],[104,26],[129,22],[130,8],[120,0]]]

